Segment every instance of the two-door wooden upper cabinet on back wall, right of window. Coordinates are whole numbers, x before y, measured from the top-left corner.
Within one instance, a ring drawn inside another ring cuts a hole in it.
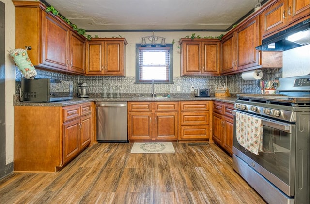
[[[218,39],[181,39],[181,75],[219,75]]]

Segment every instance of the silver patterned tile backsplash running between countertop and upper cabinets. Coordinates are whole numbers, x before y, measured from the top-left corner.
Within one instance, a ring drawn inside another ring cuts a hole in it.
[[[264,81],[282,77],[282,69],[280,68],[268,68],[262,69],[262,71],[262,80]],[[22,75],[16,68],[16,94],[19,93],[21,78]],[[37,76],[35,78],[73,81],[73,90],[75,93],[80,82],[86,82],[88,84],[90,94],[151,92],[151,84],[137,84],[135,83],[135,77],[68,75],[37,69]],[[260,88],[258,87],[258,82],[259,80],[243,80],[241,73],[226,76],[182,76],[174,77],[173,84],[155,84],[155,92],[166,93],[170,89],[171,93],[190,93],[192,92],[191,86],[194,86],[195,88],[209,88],[212,94],[218,87],[227,86],[230,93],[259,94]]]

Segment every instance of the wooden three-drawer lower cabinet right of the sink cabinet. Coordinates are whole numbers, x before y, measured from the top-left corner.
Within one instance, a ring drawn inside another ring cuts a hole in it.
[[[179,141],[202,141],[210,137],[210,103],[212,101],[180,102],[180,135]]]

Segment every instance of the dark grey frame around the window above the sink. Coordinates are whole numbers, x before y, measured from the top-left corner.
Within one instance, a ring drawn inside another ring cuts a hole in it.
[[[160,47],[160,44],[156,44],[156,47],[151,47],[151,44],[147,44],[147,49],[155,48],[160,49],[164,47]],[[169,79],[168,81],[162,80],[154,80],[154,83],[162,83],[162,84],[171,84],[173,83],[173,44],[166,44],[166,47],[169,47]],[[149,84],[152,83],[152,80],[144,80],[140,81],[140,48],[141,44],[136,44],[136,82],[140,84]]]

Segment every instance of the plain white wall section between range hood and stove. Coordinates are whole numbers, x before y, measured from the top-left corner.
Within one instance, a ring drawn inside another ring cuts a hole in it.
[[[283,77],[294,77],[310,73],[310,45],[283,52]]]

